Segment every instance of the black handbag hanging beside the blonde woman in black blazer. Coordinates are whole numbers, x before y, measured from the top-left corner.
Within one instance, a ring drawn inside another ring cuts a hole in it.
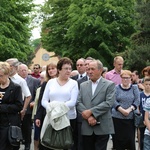
[[[22,141],[22,131],[18,126],[9,126],[8,140],[12,146],[19,146]]]

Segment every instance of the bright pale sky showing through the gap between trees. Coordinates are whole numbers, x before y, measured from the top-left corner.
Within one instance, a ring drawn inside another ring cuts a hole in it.
[[[35,4],[43,4],[45,0],[34,0],[33,2]],[[37,27],[37,28],[34,28],[32,30],[32,37],[31,39],[37,39],[37,38],[40,38],[40,32],[41,32],[41,28],[40,27]]]

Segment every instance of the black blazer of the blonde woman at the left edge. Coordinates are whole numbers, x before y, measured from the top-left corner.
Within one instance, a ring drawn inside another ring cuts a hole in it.
[[[0,98],[0,126],[8,126],[9,123],[20,126],[21,119],[19,112],[23,108],[20,85],[10,80],[7,88],[0,88],[0,93],[4,95]]]

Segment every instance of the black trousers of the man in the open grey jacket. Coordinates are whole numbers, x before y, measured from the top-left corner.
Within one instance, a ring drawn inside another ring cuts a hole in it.
[[[109,135],[83,135],[83,150],[106,150]]]

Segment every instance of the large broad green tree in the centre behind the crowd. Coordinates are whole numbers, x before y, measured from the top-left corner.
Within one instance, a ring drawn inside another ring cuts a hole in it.
[[[134,0],[48,0],[43,46],[74,61],[92,56],[110,67],[113,57],[130,45],[134,6]]]

